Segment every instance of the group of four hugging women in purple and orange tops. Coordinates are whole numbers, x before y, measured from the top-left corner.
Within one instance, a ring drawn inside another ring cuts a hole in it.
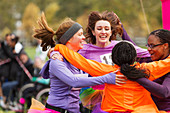
[[[40,72],[50,92],[45,108],[29,113],[79,113],[80,103],[92,113],[170,113],[169,30],[152,31],[143,49],[112,11],[91,12],[85,35],[70,18],[54,31],[42,13],[38,25],[34,37],[52,48]]]

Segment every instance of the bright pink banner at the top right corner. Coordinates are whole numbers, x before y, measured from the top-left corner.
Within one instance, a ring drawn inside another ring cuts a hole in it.
[[[170,30],[170,0],[161,0],[161,2],[163,29]]]

